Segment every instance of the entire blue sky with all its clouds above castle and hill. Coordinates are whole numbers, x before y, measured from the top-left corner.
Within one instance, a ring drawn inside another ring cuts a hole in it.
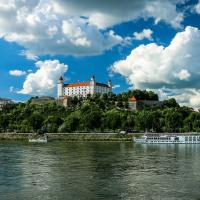
[[[0,97],[112,80],[200,107],[200,1],[0,0]]]

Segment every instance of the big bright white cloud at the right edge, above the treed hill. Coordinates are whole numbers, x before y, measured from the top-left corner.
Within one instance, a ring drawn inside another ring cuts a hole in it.
[[[169,46],[140,45],[126,59],[115,62],[111,69],[126,77],[135,88],[194,91],[200,88],[199,52],[200,30],[188,26],[175,35]],[[194,102],[191,96],[188,103]]]

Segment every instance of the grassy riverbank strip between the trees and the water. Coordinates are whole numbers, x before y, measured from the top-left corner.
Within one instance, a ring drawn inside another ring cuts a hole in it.
[[[0,140],[23,140],[28,141],[33,133],[0,133]],[[48,141],[129,141],[134,135],[122,135],[118,133],[48,133]]]

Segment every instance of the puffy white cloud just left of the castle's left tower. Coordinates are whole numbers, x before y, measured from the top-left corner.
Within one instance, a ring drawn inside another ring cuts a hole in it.
[[[37,71],[27,75],[21,94],[52,94],[60,75],[68,70],[68,66],[58,60],[37,61]]]

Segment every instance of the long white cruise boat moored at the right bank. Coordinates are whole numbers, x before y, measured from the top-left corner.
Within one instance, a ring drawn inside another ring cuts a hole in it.
[[[199,144],[200,135],[144,135],[134,138],[134,142],[142,144]]]

